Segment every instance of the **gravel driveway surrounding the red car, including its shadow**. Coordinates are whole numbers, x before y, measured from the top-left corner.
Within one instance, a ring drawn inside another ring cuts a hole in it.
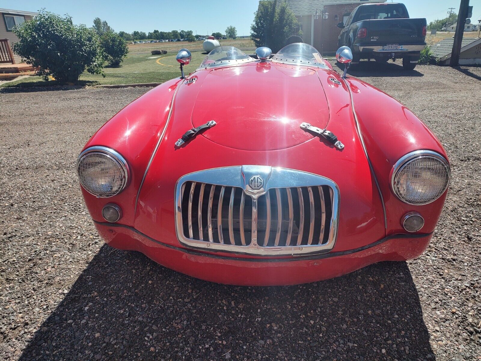
[[[207,283],[103,244],[76,156],[148,88],[0,90],[0,359],[481,360],[481,68],[353,74],[441,140],[446,205],[418,259],[291,287]]]

